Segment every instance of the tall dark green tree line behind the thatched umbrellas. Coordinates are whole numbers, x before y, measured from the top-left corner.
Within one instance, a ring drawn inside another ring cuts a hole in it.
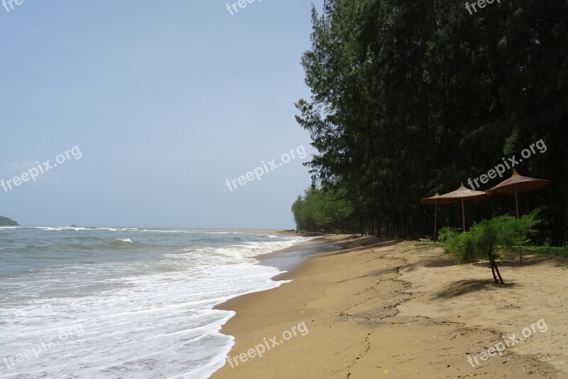
[[[541,242],[564,243],[568,0],[508,0],[474,15],[454,0],[326,0],[312,9],[311,42],[302,66],[312,95],[296,119],[317,154],[312,188],[293,208],[299,228],[431,234],[433,209],[420,198],[542,139],[547,151],[515,169],[552,185],[520,196],[521,210],[544,206]],[[315,191],[314,203],[343,205],[311,214],[302,205]],[[466,218],[513,210],[509,196],[493,196],[467,203]],[[458,225],[460,212],[440,207],[439,225]]]

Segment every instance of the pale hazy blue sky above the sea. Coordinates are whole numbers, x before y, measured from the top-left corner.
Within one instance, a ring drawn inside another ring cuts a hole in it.
[[[294,106],[310,96],[300,60],[312,3],[226,4],[1,6],[0,215],[294,228],[290,207],[311,183],[302,163],[315,154]]]

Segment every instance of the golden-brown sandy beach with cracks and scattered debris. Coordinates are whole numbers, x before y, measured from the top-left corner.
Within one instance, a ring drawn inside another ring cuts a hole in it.
[[[506,285],[441,247],[328,236],[266,292],[228,301],[230,363],[212,378],[566,378],[566,263],[511,255]]]

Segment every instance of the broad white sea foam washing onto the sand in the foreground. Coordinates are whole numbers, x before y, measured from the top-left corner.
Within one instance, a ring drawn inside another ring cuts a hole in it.
[[[191,272],[121,279],[124,288],[90,297],[35,299],[1,306],[0,358],[24,353],[38,341],[57,346],[0,368],[1,376],[207,378],[223,365],[231,337],[219,333],[232,312],[212,310],[230,297],[279,285],[277,269],[233,262]],[[84,335],[60,341],[56,331],[80,325]],[[207,362],[204,366],[202,363]]]

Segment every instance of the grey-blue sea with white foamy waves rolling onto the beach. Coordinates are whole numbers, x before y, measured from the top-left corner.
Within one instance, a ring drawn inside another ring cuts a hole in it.
[[[0,378],[208,378],[234,345],[220,333],[234,312],[214,306],[283,284],[273,279],[282,267],[258,257],[309,243],[231,230],[2,227]]]

